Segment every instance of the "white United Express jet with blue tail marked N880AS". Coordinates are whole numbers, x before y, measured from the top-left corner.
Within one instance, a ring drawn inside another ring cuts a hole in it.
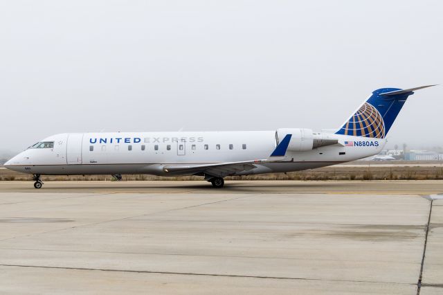
[[[415,90],[382,88],[335,132],[307,128],[233,132],[64,133],[42,139],[4,166],[33,175],[199,175],[214,188],[224,177],[332,166],[379,154]]]

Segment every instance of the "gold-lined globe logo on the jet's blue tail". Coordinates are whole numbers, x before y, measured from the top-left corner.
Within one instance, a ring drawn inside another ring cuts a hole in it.
[[[365,102],[358,111],[343,126],[344,134],[351,136],[365,136],[384,138],[385,127],[379,111]]]

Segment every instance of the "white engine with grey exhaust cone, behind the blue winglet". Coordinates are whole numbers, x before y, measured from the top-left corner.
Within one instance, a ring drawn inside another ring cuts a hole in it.
[[[290,152],[306,152],[316,147],[338,143],[338,140],[333,138],[332,134],[312,132],[312,129],[307,128],[280,128],[275,132],[277,144],[280,143],[287,134],[292,135],[287,149]]]

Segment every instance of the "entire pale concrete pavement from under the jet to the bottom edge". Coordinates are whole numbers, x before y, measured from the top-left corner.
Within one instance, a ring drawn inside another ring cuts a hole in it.
[[[443,293],[443,181],[226,185],[1,181],[0,294]]]

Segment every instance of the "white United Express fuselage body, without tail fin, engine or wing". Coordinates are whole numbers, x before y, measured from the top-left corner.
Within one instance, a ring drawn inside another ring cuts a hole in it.
[[[305,152],[288,150],[284,161],[260,163],[252,170],[232,175],[330,166],[378,154],[386,143],[381,138],[339,134],[329,138],[338,143]],[[163,167],[269,159],[277,145],[275,131],[71,133],[49,136],[46,141],[53,142],[53,147],[30,147],[5,166],[34,175],[172,175]],[[350,142],[352,146],[347,144]]]

